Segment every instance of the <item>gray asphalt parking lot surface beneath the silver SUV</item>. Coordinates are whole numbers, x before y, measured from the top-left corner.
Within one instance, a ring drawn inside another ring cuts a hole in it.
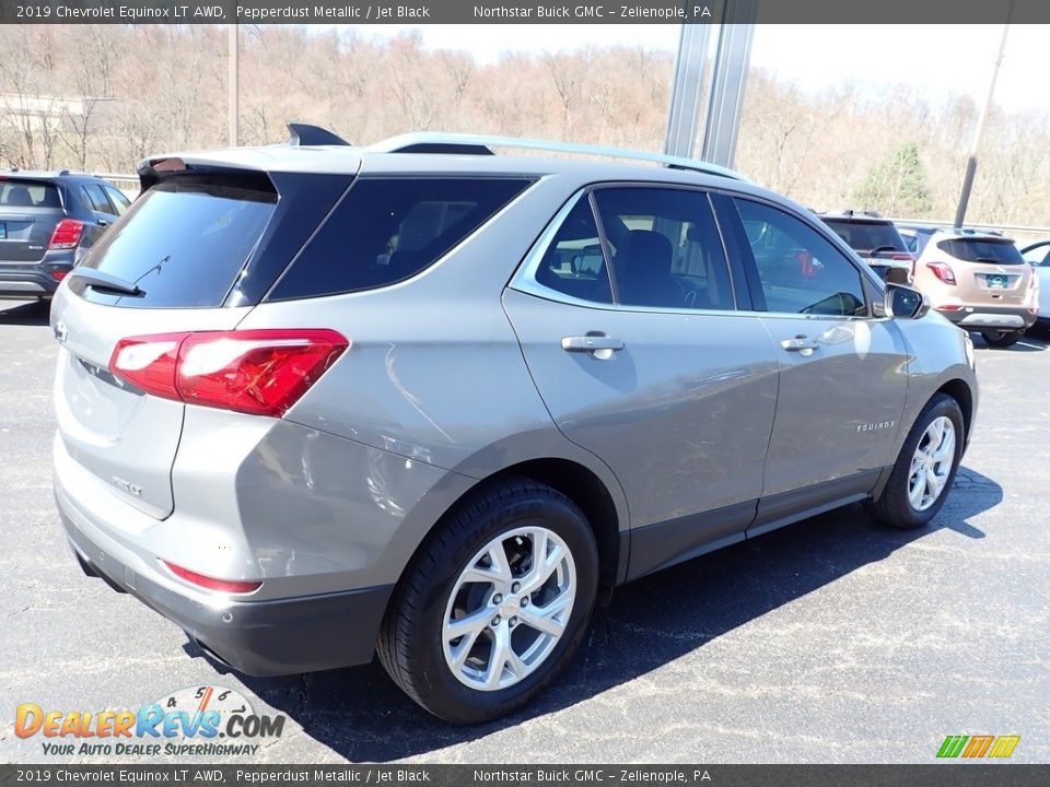
[[[1019,735],[1014,761],[1048,762],[1050,352],[976,341],[977,432],[929,527],[887,531],[855,505],[622,588],[555,691],[465,729],[377,663],[221,674],[85,577],[50,492],[46,310],[0,302],[0,761],[46,760],[39,736],[14,733],[20,703],[133,708],[214,684],[288,716],[234,762],[925,763],[945,736],[982,733]]]

